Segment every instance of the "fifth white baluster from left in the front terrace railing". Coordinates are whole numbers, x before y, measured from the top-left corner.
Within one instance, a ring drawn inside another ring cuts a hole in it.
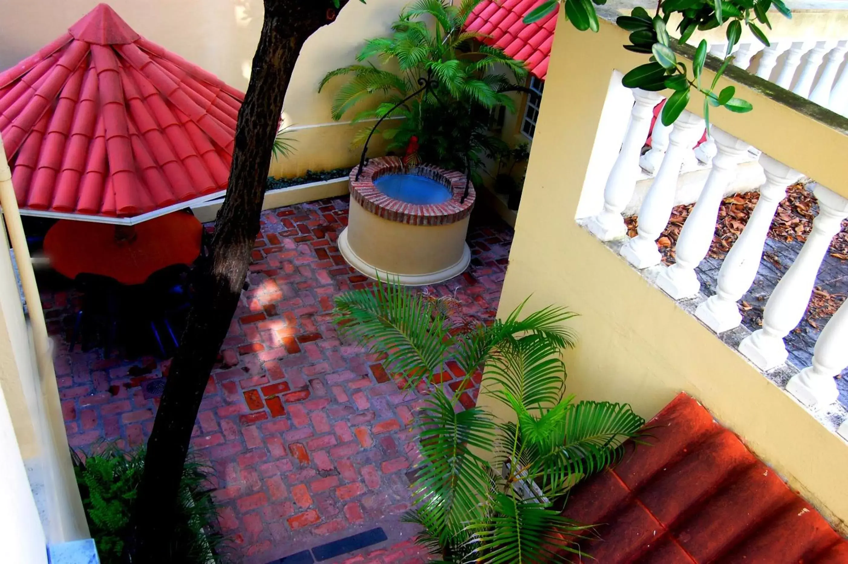
[[[848,199],[821,185],[816,185],[814,193],[819,212],[812,221],[812,232],[769,297],[762,329],[739,343],[739,352],[763,371],[782,365],[789,356],[784,337],[804,316],[824,254],[831,239],[840,232],[842,220],[848,217]]]

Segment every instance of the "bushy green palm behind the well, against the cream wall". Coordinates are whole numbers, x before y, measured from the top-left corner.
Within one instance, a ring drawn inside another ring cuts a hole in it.
[[[463,0],[454,6],[450,0],[417,0],[404,9],[392,26],[393,36],[371,39],[357,64],[332,70],[321,81],[319,92],[332,78],[349,76],[333,98],[332,119],[341,120],[357,103],[379,96],[376,108],[358,111],[353,121],[379,120],[392,112],[404,118],[380,131],[389,151],[402,153],[417,137],[427,162],[475,168],[499,142],[488,135],[490,110],[499,105],[514,109],[508,92],[521,90],[514,81],[526,75],[523,63],[477,44],[482,34],[463,31],[480,2]],[[354,144],[365,142],[370,132],[370,126],[358,131]]]

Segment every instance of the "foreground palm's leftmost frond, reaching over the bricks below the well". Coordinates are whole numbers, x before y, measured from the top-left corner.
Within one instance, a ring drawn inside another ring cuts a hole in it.
[[[395,284],[343,293],[336,298],[340,331],[373,352],[388,355],[388,367],[427,380],[449,352],[448,323],[420,293]]]

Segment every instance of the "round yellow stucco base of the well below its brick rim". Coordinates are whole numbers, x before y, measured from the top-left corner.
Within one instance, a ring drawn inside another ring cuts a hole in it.
[[[404,286],[435,284],[468,267],[468,220],[410,226],[374,215],[351,198],[348,227],[338,237],[338,248],[365,276]]]

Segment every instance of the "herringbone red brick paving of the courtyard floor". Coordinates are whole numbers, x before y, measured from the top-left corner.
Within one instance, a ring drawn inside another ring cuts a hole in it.
[[[405,472],[416,456],[410,432],[427,387],[401,392],[377,359],[343,343],[332,325],[333,297],[363,288],[338,253],[348,200],[265,211],[249,288],[209,378],[192,448],[216,472],[220,527],[232,560],[265,562],[344,536],[409,508]],[[472,263],[462,276],[425,291],[455,296],[481,321],[497,310],[512,232],[473,223]],[[167,361],[103,359],[101,349],[68,352],[72,291],[43,292],[57,338],[56,372],[71,446],[142,444],[153,426]],[[460,390],[459,366],[440,378],[462,405],[474,405],[479,378]],[[371,525],[373,526],[373,525]],[[349,562],[416,562],[404,541]]]

